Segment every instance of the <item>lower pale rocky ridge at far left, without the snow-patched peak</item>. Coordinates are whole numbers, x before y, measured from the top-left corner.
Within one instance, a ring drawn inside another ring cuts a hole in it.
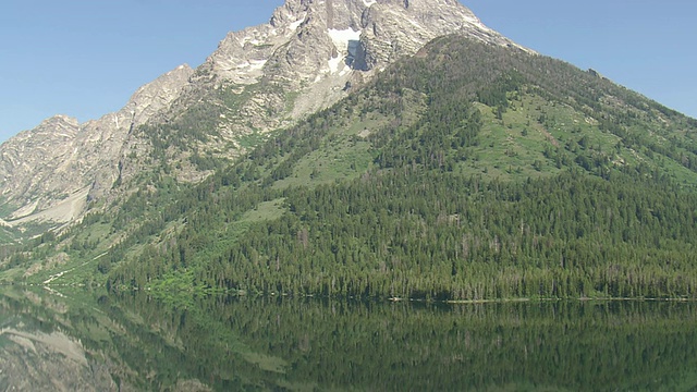
[[[68,222],[80,216],[88,196],[99,197],[118,176],[118,162],[131,132],[169,109],[187,84],[183,65],[140,87],[115,113],[80,124],[56,115],[0,147],[5,220]]]

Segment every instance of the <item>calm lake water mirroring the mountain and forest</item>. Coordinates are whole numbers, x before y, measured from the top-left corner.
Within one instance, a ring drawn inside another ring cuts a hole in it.
[[[695,391],[697,304],[0,287],[0,391]]]

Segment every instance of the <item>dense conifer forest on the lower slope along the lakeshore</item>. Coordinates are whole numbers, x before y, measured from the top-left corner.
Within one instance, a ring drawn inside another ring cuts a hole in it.
[[[433,299],[693,296],[697,197],[664,185],[395,171],[295,189],[284,195],[291,215],[250,228],[198,279]]]

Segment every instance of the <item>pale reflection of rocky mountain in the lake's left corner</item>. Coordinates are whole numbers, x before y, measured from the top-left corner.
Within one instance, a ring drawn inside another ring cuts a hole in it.
[[[0,391],[161,390],[123,355],[143,351],[99,308],[103,302],[57,294],[0,287]],[[168,389],[208,390],[183,378]]]

